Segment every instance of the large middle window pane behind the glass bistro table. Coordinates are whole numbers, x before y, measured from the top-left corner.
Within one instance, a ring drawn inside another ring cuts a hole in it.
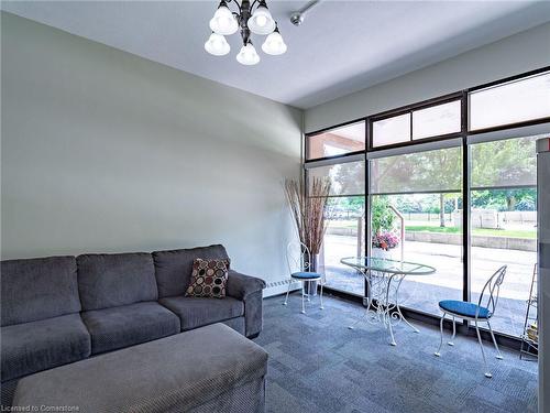
[[[440,315],[439,301],[462,300],[462,148],[374,159],[370,167],[371,254],[436,268],[406,278],[399,300]]]

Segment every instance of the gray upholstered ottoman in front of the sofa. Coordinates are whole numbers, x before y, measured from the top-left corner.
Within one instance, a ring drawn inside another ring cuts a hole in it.
[[[267,354],[260,346],[215,324],[26,377],[13,405],[94,413],[263,412],[266,371]]]

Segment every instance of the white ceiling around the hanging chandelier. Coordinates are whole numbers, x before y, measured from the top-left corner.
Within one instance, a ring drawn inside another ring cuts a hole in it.
[[[549,1],[321,1],[299,28],[307,1],[268,0],[288,44],[283,56],[245,67],[204,43],[217,0],[2,1],[2,10],[168,66],[309,108],[550,21]]]

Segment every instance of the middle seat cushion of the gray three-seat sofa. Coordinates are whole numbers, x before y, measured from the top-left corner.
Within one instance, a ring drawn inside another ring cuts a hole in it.
[[[155,302],[85,312],[82,320],[92,355],[179,333],[179,318]]]

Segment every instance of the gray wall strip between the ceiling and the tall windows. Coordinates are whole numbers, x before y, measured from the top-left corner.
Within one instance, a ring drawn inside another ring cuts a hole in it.
[[[550,23],[307,109],[312,132],[550,65]]]

